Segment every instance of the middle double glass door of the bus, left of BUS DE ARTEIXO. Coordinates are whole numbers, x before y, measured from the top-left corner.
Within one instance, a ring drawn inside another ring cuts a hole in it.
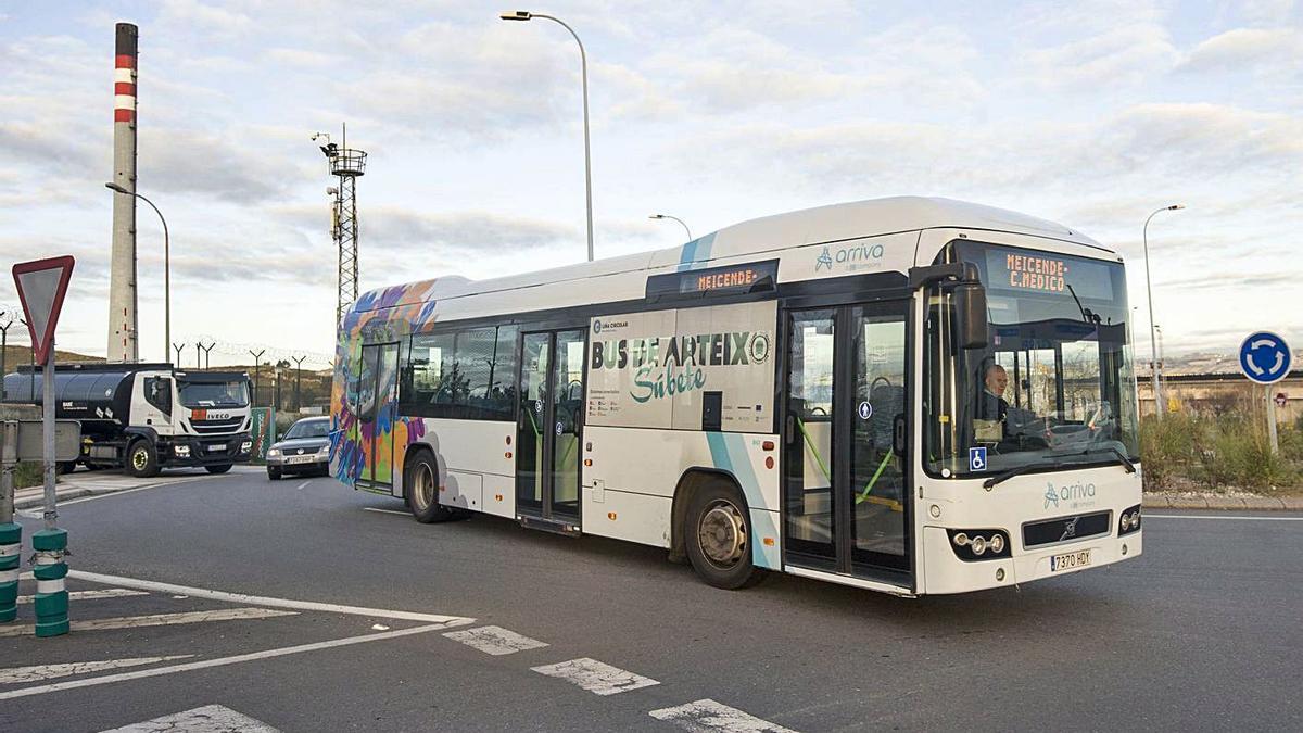
[[[516,509],[526,523],[579,524],[586,329],[521,337]]]

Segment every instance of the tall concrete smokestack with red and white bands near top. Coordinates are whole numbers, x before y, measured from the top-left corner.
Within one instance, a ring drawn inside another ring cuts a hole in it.
[[[136,47],[139,29],[117,23],[113,56],[113,183],[136,192]],[[113,196],[108,282],[109,361],[139,361],[136,331],[136,197]],[[167,353],[163,355],[167,359]]]

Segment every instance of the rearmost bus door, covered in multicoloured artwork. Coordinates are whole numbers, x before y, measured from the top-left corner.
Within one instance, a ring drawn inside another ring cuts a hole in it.
[[[399,344],[362,347],[358,383],[358,432],[366,455],[361,479],[394,484],[394,423],[397,420]]]

